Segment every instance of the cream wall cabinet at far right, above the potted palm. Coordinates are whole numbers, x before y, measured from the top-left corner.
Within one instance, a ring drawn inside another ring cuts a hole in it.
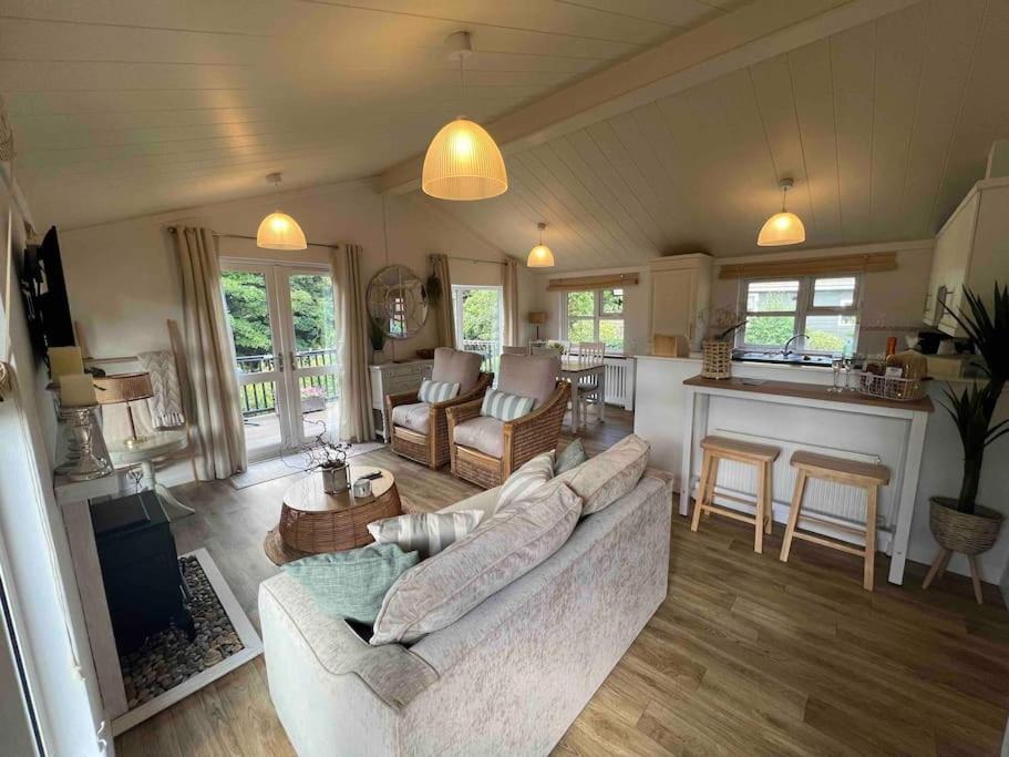
[[[975,184],[936,235],[925,323],[964,336],[940,300],[959,313],[967,286],[990,304],[995,282],[1009,284],[1009,177]]]

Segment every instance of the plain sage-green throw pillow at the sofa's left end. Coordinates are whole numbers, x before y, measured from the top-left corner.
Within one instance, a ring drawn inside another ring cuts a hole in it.
[[[284,570],[308,590],[323,613],[371,625],[389,587],[418,561],[416,552],[403,552],[399,544],[369,544],[313,554]]]

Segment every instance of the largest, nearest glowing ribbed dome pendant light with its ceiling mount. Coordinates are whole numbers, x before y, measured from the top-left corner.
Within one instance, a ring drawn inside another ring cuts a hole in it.
[[[460,83],[465,92],[463,61],[473,52],[470,32],[450,34],[445,44],[449,59],[459,60]],[[487,200],[505,193],[508,175],[494,137],[462,115],[446,123],[428,145],[421,188],[439,200]]]

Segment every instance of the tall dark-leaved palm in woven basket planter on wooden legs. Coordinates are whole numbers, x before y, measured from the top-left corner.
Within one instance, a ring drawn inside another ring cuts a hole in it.
[[[964,444],[964,479],[958,497],[930,498],[928,524],[944,550],[939,560],[948,560],[949,552],[960,552],[970,559],[974,573],[974,556],[995,545],[1002,524],[1001,513],[978,504],[977,494],[985,451],[1009,433],[1009,420],[992,423],[996,406],[1009,378],[1009,287],[1000,289],[996,283],[990,310],[966,287],[964,297],[967,304],[960,313],[947,310],[984,358],[987,382],[968,385],[959,393],[946,386],[947,402],[943,407],[953,417]]]

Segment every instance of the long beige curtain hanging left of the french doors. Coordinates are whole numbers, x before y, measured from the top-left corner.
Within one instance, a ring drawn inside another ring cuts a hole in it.
[[[248,456],[217,243],[207,228],[168,231],[182,272],[183,330],[194,406],[186,408],[186,416],[195,426],[196,474],[200,481],[226,479],[246,469]]]

